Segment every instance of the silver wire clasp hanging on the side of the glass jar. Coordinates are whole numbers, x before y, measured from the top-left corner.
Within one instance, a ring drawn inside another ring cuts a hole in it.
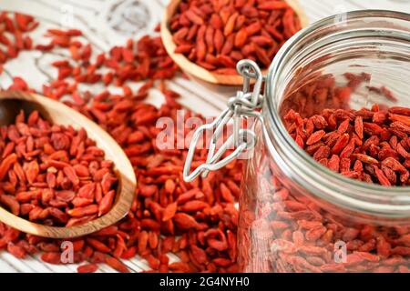
[[[228,108],[225,109],[212,123],[201,125],[192,135],[190,148],[185,161],[183,178],[186,182],[194,180],[197,176],[206,177],[210,171],[216,171],[238,158],[241,153],[251,150],[256,144],[256,135],[250,129],[241,128],[242,118],[256,117],[261,115],[256,109],[261,108],[262,95],[261,87],[265,77],[261,74],[261,69],[251,60],[241,60],[236,65],[236,69],[243,76],[242,91],[231,97],[228,101]],[[253,91],[250,91],[251,79],[255,80]],[[222,138],[225,125],[233,121],[232,135],[217,148],[218,142]],[[195,149],[201,137],[209,130],[213,131],[208,148],[208,156],[205,163],[198,166],[190,173]],[[233,149],[231,154],[220,159],[227,150]]]

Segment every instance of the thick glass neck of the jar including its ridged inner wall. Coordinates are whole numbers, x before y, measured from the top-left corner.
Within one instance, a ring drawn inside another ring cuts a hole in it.
[[[337,174],[297,146],[282,123],[281,105],[289,87],[297,89],[298,84],[323,72],[327,65],[345,60],[353,51],[359,55],[375,54],[374,60],[379,60],[382,67],[387,53],[410,65],[410,15],[355,11],[323,19],[294,35],[276,55],[267,76],[263,106],[265,144],[283,171],[313,195],[365,214],[409,217],[409,186],[377,186]],[[404,74],[410,74],[408,67]],[[401,105],[408,106],[409,101],[403,99]]]

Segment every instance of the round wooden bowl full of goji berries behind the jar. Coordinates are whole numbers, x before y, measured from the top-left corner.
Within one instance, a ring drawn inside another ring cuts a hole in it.
[[[220,85],[241,85],[236,63],[271,65],[307,17],[296,0],[173,0],[161,24],[167,52],[184,72]]]

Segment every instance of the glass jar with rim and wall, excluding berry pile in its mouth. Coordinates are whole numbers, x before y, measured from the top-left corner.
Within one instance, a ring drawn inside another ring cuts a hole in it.
[[[346,90],[350,98],[333,97]],[[264,122],[255,125],[258,143],[243,180],[242,271],[410,271],[410,186],[334,173],[297,146],[283,123],[291,108],[309,117],[374,104],[410,107],[410,15],[329,17],[282,47],[267,76]]]

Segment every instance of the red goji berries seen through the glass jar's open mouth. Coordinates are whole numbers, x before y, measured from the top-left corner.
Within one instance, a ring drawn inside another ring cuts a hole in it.
[[[410,108],[373,105],[349,109],[354,88],[370,76],[344,77],[348,85],[336,87],[334,95],[334,77],[325,75],[302,86],[297,100],[288,98],[282,112],[289,134],[317,162],[343,176],[383,186],[409,186]],[[395,101],[384,86],[368,89]],[[303,108],[302,103],[306,104]]]

